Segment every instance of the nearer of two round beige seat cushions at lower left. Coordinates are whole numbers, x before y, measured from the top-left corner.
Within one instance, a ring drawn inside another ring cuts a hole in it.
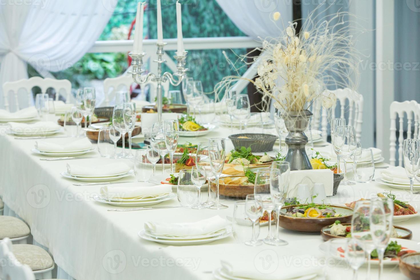
[[[30,244],[12,245],[12,251],[21,264],[28,265],[34,272],[45,270],[53,266],[50,254],[41,247]]]

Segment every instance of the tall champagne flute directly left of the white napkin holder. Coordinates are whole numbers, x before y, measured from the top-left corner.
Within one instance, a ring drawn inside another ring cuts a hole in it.
[[[276,237],[265,243],[275,246],[287,245],[288,242],[281,240],[278,236],[279,217],[281,207],[286,201],[289,193],[290,163],[283,160],[276,160],[271,164],[270,169],[270,194],[276,209]]]

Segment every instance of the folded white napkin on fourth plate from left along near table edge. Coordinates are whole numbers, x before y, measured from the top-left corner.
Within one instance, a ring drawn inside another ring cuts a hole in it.
[[[67,171],[70,175],[79,176],[105,176],[130,171],[130,167],[124,162],[115,160],[97,159],[78,160],[67,163]]]

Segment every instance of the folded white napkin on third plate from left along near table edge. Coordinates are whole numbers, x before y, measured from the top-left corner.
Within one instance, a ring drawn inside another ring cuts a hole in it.
[[[70,151],[81,151],[92,148],[92,143],[87,138],[81,139],[45,139],[42,141],[35,141],[35,148],[39,151],[58,151],[58,152],[70,152]]]

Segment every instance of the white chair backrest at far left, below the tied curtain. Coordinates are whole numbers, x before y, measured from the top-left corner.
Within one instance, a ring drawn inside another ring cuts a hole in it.
[[[9,92],[12,92],[15,100],[16,110],[19,110],[19,101],[18,101],[18,91],[19,89],[25,89],[28,97],[28,104],[32,97],[32,88],[39,86],[42,93],[46,93],[47,89],[52,88],[55,90],[55,100],[58,100],[60,90],[64,90],[66,103],[70,103],[70,94],[71,94],[71,82],[69,80],[56,80],[51,78],[41,78],[41,77],[32,77],[30,79],[21,79],[13,82],[5,82],[3,84],[3,94],[4,94],[4,107],[5,110],[10,111],[9,106]],[[22,108],[20,108],[22,109]]]

